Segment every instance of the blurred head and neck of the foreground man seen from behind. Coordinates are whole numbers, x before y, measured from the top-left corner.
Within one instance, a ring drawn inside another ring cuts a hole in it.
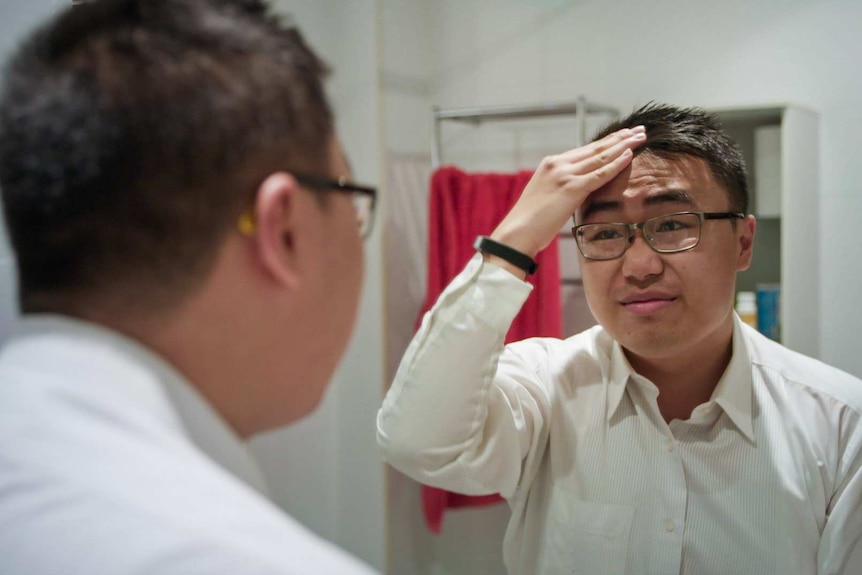
[[[260,0],[97,0],[37,30],[0,96],[22,312],[144,341],[244,435],[309,411],[362,272],[351,197],[319,183],[349,176],[325,74]]]

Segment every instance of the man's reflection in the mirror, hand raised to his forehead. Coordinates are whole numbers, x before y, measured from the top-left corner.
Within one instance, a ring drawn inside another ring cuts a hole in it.
[[[512,508],[513,574],[837,574],[862,533],[862,382],[743,325],[745,170],[650,105],[546,158],[449,285],[378,415],[415,479]],[[599,325],[503,346],[567,215]]]

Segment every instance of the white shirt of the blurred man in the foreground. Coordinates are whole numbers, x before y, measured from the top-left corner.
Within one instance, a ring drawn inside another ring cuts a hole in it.
[[[244,444],[136,343],[46,317],[0,354],[3,575],[372,573],[236,475]]]

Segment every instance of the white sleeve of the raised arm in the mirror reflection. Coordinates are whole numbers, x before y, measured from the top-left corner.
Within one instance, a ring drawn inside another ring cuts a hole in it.
[[[450,491],[514,494],[549,405],[539,376],[547,369],[543,347],[503,345],[531,289],[476,254],[444,290],[377,415],[387,462]]]

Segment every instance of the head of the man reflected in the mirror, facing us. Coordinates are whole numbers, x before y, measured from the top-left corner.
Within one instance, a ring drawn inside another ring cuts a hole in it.
[[[741,215],[748,208],[741,154],[714,117],[662,105],[637,110],[597,139],[637,125],[645,126],[646,142],[625,171],[587,198],[575,224],[712,216],[618,228],[620,253],[598,254],[608,259],[582,252],[587,302],[633,364],[729,352],[736,273],[750,263],[755,228],[753,216]]]

